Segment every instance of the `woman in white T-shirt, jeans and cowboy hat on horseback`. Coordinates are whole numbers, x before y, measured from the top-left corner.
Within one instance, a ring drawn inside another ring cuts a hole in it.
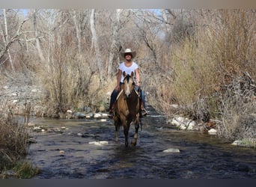
[[[138,72],[138,64],[136,64],[134,61],[132,61],[132,58],[135,58],[136,52],[132,52],[131,49],[125,49],[124,52],[121,52],[121,55],[124,57],[125,61],[122,62],[118,67],[118,82],[117,86],[115,87],[114,91],[112,91],[111,99],[110,99],[110,105],[109,105],[109,117],[113,117],[114,115],[114,102],[118,97],[118,93],[121,88],[121,84],[124,82],[124,76],[123,72],[131,75],[133,72],[135,80],[135,90],[138,91],[138,88],[141,85],[141,79]],[[144,91],[141,91],[141,115],[145,116],[147,115],[147,111],[145,109],[145,94]]]

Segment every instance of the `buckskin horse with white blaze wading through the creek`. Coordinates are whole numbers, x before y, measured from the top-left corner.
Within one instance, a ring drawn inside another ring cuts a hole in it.
[[[123,76],[124,84],[121,85],[121,91],[116,100],[113,119],[115,122],[115,141],[118,142],[118,130],[123,126],[125,146],[128,147],[129,126],[132,122],[135,125],[135,134],[131,145],[135,146],[138,139],[138,128],[141,125],[141,99],[139,98],[139,93],[134,89],[133,72],[131,75],[123,72]]]

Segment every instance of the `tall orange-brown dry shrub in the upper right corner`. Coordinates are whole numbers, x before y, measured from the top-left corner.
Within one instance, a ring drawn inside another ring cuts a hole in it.
[[[216,16],[217,15],[217,16]],[[232,76],[248,72],[256,79],[255,10],[216,10],[208,15],[209,26],[201,31],[207,54],[218,62],[216,75],[220,84],[228,84]],[[209,22],[210,21],[210,22]]]

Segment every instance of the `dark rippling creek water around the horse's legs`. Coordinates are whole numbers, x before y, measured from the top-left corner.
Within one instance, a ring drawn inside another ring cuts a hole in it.
[[[30,145],[26,159],[41,171],[34,178],[256,179],[255,149],[171,128],[153,108],[142,118],[135,147],[124,146],[122,128],[115,143],[112,119],[37,119],[36,123],[65,129],[31,133],[37,143]],[[129,142],[133,133],[131,126]],[[180,152],[163,151],[170,148]]]

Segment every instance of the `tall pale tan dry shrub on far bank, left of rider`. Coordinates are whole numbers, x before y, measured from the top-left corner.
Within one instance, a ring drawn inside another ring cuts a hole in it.
[[[82,58],[66,55],[62,61],[57,56],[56,61],[45,64],[37,75],[46,91],[44,105],[49,108],[47,115],[51,116],[76,107],[79,102],[86,102],[94,72]]]

